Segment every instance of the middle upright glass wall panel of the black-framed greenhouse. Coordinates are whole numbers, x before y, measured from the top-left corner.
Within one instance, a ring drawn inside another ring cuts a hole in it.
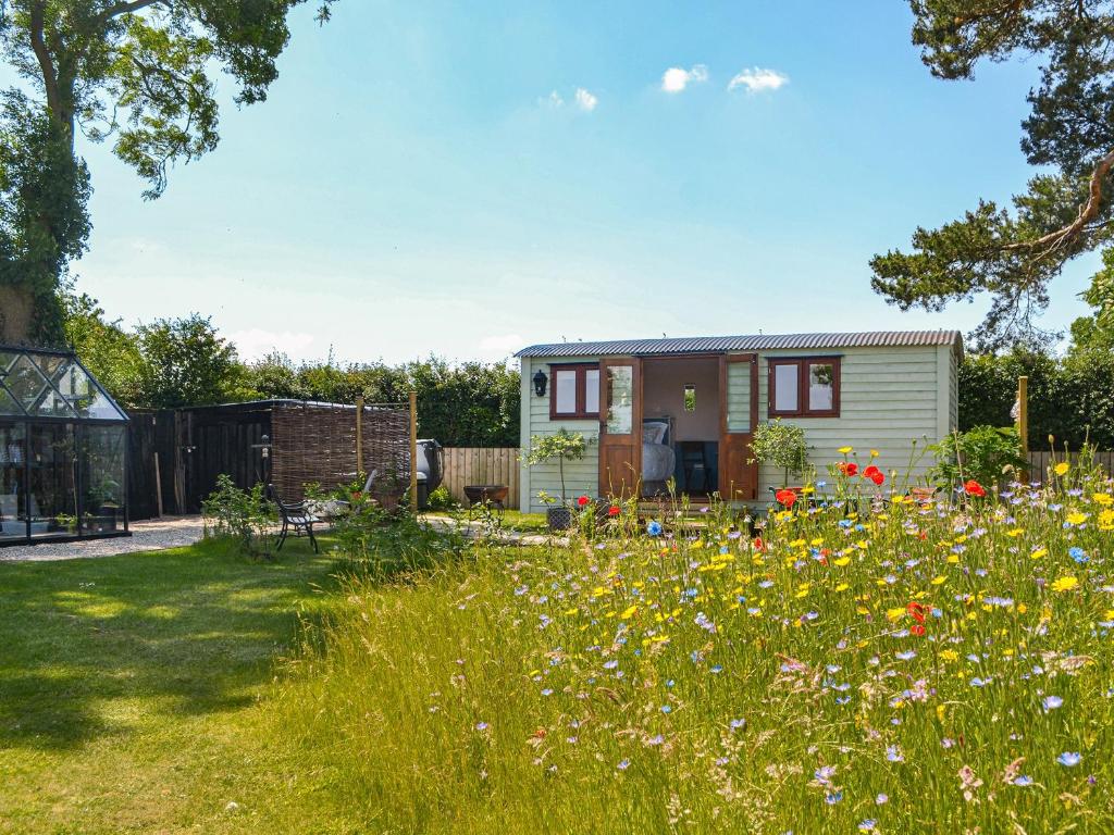
[[[77,446],[72,424],[32,425],[28,458],[31,536],[77,533]]]

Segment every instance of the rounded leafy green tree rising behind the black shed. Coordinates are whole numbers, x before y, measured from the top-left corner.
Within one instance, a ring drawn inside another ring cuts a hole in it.
[[[157,320],[136,330],[139,364],[136,404],[153,409],[206,405],[241,400],[244,366],[236,347],[213,323],[193,314]]]

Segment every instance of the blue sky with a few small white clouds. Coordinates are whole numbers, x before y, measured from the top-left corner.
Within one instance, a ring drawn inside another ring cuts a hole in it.
[[[959,328],[870,288],[1033,174],[1035,62],[934,79],[893,0],[400,3],[296,10],[266,102],[158,200],[84,146],[78,287],[134,325],[212,315],[242,355],[499,361],[527,344]],[[1069,266],[1044,326],[1086,312]]]

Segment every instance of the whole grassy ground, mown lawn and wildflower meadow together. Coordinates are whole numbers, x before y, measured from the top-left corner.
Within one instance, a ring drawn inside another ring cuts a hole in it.
[[[377,524],[340,579],[0,566],[0,831],[1114,831],[1114,484],[831,482],[568,546]]]

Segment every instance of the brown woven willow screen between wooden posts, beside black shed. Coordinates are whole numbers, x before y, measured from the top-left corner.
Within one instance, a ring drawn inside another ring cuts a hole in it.
[[[271,480],[283,499],[302,499],[309,483],[332,490],[356,478],[355,416],[355,406],[275,405]],[[365,405],[361,436],[363,471],[377,471],[380,489],[401,495],[410,482],[410,406]]]

